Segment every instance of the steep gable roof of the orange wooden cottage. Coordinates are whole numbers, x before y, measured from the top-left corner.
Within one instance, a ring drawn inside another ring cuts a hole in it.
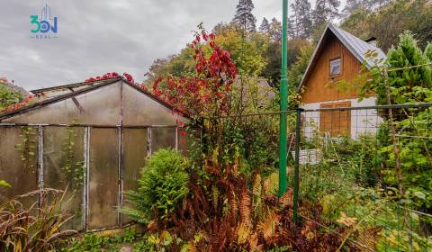
[[[326,29],[324,29],[320,41],[318,42],[318,45],[312,54],[311,61],[306,68],[306,71],[302,77],[302,81],[298,86],[298,89],[302,87],[303,83],[311,75],[312,68],[316,65],[318,59],[320,58],[321,52],[325,49],[327,41],[332,35],[335,36],[339,41],[341,41],[342,44],[347,47],[347,49],[358,59],[358,61],[362,63],[365,62],[367,68],[374,67],[374,61],[376,61],[376,59],[383,59],[387,57],[383,50],[374,46],[374,44],[368,43],[364,40],[360,40],[348,31],[344,31],[329,23]],[[377,58],[367,58],[365,54],[368,51],[376,52]]]

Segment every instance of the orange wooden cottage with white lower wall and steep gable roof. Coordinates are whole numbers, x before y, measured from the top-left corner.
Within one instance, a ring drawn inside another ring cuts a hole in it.
[[[371,51],[376,52],[376,58],[366,57]],[[385,57],[383,50],[374,45],[374,38],[360,40],[329,24],[298,86],[303,91],[301,107],[310,111],[303,117],[305,135],[311,137],[320,132],[356,139],[360,133],[375,130],[380,119],[374,110],[320,109],[374,105],[374,97],[358,99],[358,76],[365,72],[364,64],[367,70],[374,66],[376,59]]]

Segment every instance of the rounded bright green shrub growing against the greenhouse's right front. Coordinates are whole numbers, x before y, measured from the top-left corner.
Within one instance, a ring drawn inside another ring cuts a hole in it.
[[[126,193],[132,207],[121,212],[140,223],[165,219],[189,192],[187,164],[188,160],[174,149],[158,150],[141,171],[139,189]]]

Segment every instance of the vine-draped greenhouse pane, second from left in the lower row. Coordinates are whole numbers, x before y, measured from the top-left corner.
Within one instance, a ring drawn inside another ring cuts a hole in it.
[[[84,229],[85,128],[43,128],[43,184],[66,190],[61,208],[74,217],[66,229]]]

